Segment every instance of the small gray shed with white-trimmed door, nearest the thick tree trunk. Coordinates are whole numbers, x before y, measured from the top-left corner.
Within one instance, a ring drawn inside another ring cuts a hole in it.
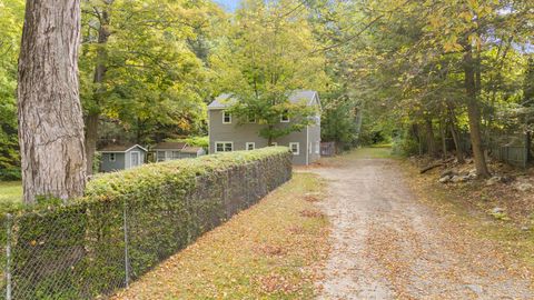
[[[98,150],[102,157],[101,172],[131,169],[145,163],[147,149],[139,144],[109,144]]]

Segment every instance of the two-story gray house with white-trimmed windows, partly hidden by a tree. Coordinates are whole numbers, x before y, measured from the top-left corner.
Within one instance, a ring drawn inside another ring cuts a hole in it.
[[[254,150],[268,147],[267,139],[259,137],[263,124],[256,120],[238,123],[226,109],[237,101],[231,94],[221,94],[208,106],[209,118],[209,152],[228,152]],[[289,96],[294,103],[305,102],[317,107],[320,111],[320,100],[316,91],[295,91]],[[309,164],[320,158],[320,113],[312,117],[313,124],[298,132],[291,132],[274,141],[270,146],[286,146],[291,150],[295,164]],[[280,116],[279,127],[290,126],[287,116]]]

